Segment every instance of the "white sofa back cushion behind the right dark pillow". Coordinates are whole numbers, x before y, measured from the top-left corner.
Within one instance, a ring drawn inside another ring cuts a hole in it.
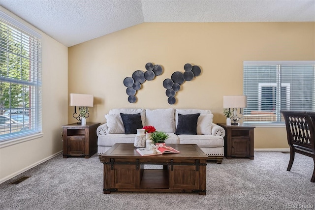
[[[202,109],[175,109],[175,125],[178,124],[178,114],[196,114],[200,113],[197,122],[197,134],[211,135],[213,114],[210,110]]]

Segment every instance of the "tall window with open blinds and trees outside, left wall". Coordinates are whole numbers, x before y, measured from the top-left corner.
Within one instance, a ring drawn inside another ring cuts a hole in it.
[[[0,142],[41,132],[41,35],[0,13]]]

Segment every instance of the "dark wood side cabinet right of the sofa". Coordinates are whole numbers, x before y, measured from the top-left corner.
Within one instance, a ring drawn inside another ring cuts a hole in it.
[[[254,126],[226,125],[217,123],[225,130],[224,156],[226,159],[232,157],[248,157],[254,159]]]

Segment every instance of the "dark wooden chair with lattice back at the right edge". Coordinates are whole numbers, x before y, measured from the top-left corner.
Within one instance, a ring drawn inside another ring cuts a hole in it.
[[[284,116],[287,142],[290,146],[290,161],[286,170],[291,170],[295,152],[312,157],[315,164],[315,113],[280,112]],[[315,182],[315,166],[311,181]]]

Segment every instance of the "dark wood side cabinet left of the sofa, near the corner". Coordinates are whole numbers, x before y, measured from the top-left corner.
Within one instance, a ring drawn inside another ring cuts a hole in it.
[[[96,129],[99,122],[63,125],[63,158],[79,156],[90,158],[97,151]]]

